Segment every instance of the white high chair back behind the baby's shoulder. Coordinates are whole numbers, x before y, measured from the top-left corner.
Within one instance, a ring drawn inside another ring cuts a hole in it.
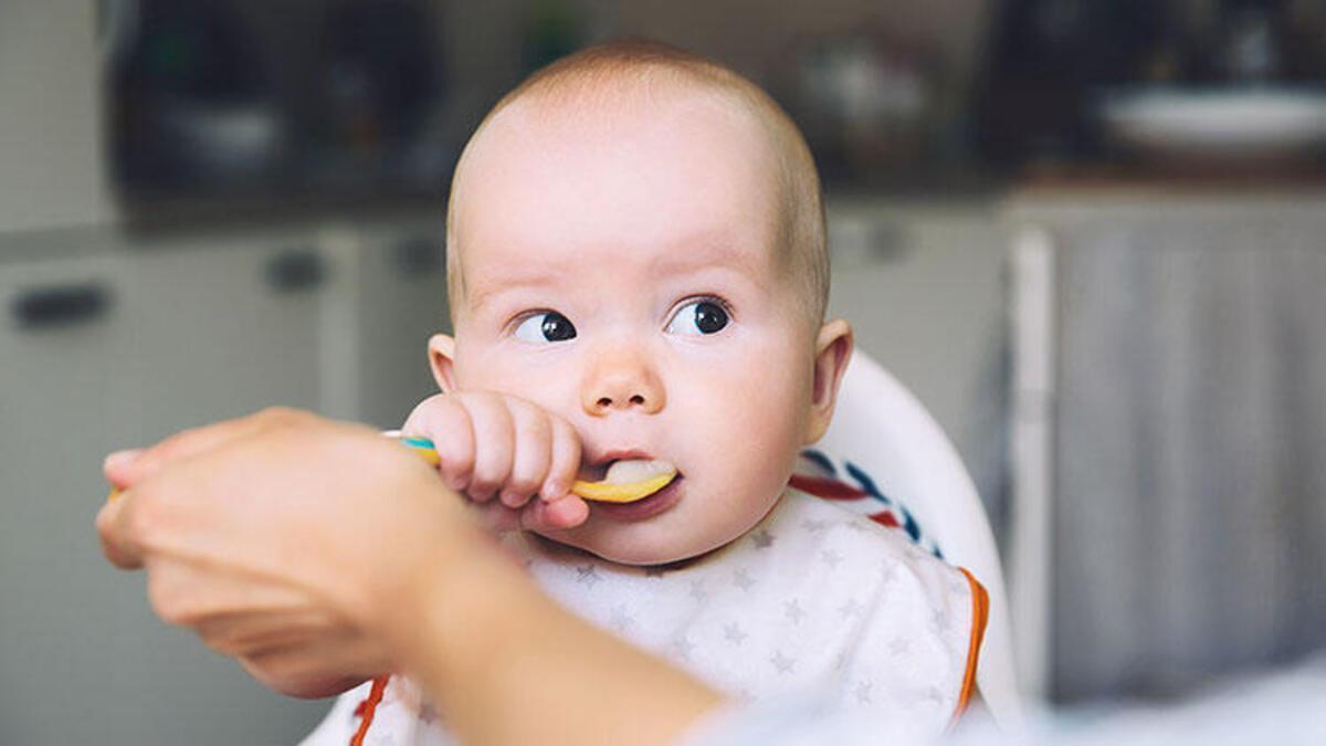
[[[906,386],[858,349],[843,374],[833,425],[814,447],[869,475],[880,492],[912,514],[949,564],[967,568],[985,587],[989,620],[976,685],[996,722],[1021,727],[998,550],[976,486],[939,423]]]

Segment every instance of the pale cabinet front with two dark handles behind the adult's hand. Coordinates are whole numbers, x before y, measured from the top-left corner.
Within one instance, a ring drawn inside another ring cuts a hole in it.
[[[274,238],[0,260],[0,742],[290,742],[324,710],[156,621],[93,530],[110,450],[316,406],[317,251]]]

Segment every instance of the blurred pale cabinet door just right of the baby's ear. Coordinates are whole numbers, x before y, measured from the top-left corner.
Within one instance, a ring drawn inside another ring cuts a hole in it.
[[[998,214],[989,202],[875,198],[827,207],[830,316],[851,321],[858,348],[922,400],[987,487],[1002,457],[1006,240]]]

